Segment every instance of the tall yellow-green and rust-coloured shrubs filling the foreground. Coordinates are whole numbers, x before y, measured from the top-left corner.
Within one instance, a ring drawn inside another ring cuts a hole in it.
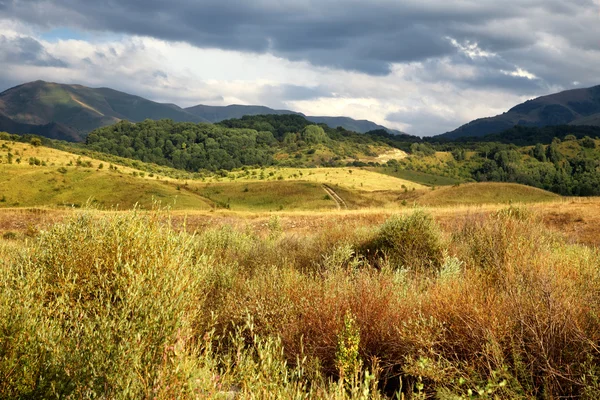
[[[600,253],[506,208],[0,240],[0,397],[597,398]]]

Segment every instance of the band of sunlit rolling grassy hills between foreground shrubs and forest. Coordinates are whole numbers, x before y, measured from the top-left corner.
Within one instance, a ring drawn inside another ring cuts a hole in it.
[[[178,210],[318,212],[558,199],[522,185],[457,185],[452,178],[388,168],[244,168],[177,179],[148,172],[153,166],[140,162],[136,169],[10,142],[0,142],[0,161],[0,207],[5,208],[80,207],[90,202],[100,208],[130,209],[136,204],[151,208],[158,201]]]

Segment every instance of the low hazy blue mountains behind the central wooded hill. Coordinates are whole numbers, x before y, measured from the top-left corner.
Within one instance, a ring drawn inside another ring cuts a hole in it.
[[[244,105],[230,105],[230,106],[205,106],[205,105],[197,105],[194,107],[188,107],[185,111],[194,114],[197,117],[204,118],[210,122],[217,123],[221,121],[225,121],[228,119],[239,119],[243,116],[249,115],[284,115],[284,114],[296,114],[305,117],[307,120],[314,122],[316,124],[326,124],[331,128],[337,128],[341,126],[342,128],[354,131],[358,133],[366,133],[369,131],[375,131],[379,129],[383,129],[388,133],[398,135],[403,132],[397,131],[395,129],[389,129],[385,126],[378,125],[374,122],[367,120],[355,120],[348,117],[313,117],[304,115],[302,113],[290,110],[275,110],[273,108],[264,107],[264,106],[244,106]]]

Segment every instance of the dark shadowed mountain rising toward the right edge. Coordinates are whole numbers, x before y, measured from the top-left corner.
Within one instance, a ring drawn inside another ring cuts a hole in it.
[[[500,133],[515,125],[600,126],[600,86],[567,90],[528,100],[501,115],[476,119],[436,137],[456,139],[463,136],[485,136]]]

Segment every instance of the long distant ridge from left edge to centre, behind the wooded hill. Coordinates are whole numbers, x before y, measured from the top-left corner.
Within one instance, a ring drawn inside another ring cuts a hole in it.
[[[175,122],[220,122],[244,115],[299,114],[264,106],[198,105],[183,109],[175,104],[157,103],[140,96],[110,88],[89,88],[35,81],[0,93],[0,131],[34,133],[53,139],[82,141],[92,130],[120,120],[140,122],[145,119],[172,119]],[[385,129],[371,121],[347,117],[307,117],[315,123],[333,128],[342,126],[359,133]]]

